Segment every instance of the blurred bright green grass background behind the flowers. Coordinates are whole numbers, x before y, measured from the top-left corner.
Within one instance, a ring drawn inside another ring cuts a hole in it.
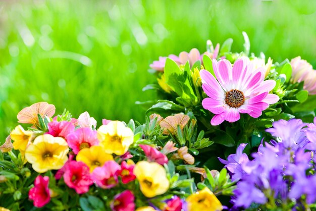
[[[135,101],[155,99],[142,87],[159,56],[242,31],[251,52],[276,62],[301,56],[316,68],[316,1],[0,1],[0,142],[17,113],[38,101],[102,118],[144,121]]]

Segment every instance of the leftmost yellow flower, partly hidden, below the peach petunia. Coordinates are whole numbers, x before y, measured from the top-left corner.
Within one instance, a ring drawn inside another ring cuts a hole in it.
[[[22,154],[25,152],[26,146],[29,144],[32,138],[32,131],[25,131],[21,125],[15,127],[11,131],[11,139],[14,140],[13,148],[19,150]]]

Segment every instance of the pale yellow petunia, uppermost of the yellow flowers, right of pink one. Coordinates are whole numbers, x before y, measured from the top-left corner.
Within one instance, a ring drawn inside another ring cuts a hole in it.
[[[134,142],[134,133],[123,122],[111,121],[109,124],[99,127],[97,138],[100,140],[100,146],[107,153],[122,155]]]

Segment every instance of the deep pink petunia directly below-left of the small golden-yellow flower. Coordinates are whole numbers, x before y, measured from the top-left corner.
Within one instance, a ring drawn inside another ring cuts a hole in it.
[[[64,181],[68,187],[76,190],[78,194],[86,193],[93,184],[90,178],[89,167],[83,162],[71,161],[66,166]]]

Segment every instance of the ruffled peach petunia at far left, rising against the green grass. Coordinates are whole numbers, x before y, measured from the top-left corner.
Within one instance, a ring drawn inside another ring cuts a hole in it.
[[[45,116],[52,117],[52,115],[55,114],[55,110],[56,108],[53,104],[48,104],[47,102],[34,103],[30,107],[26,107],[18,113],[18,123],[27,123],[38,127],[39,122],[37,115],[39,114],[42,118]]]

